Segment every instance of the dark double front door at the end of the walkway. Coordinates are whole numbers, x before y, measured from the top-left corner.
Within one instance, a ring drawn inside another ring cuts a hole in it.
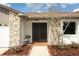
[[[34,42],[47,41],[47,23],[33,23],[32,37]]]

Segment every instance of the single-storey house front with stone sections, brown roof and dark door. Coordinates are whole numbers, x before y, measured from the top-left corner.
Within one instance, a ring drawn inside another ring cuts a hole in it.
[[[79,43],[79,12],[24,14],[0,5],[0,27],[8,28],[9,47],[20,45],[25,36],[30,36],[29,43],[47,42],[48,45],[58,45],[62,42]]]

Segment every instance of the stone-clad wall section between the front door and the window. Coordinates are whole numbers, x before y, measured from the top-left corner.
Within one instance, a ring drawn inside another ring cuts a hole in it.
[[[50,26],[50,44],[58,45],[62,43],[61,23],[58,18],[51,18],[49,21]]]

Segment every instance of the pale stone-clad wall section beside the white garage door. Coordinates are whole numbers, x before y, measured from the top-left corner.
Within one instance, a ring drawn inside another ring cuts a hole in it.
[[[10,47],[18,46],[20,40],[20,17],[17,13],[9,12]]]

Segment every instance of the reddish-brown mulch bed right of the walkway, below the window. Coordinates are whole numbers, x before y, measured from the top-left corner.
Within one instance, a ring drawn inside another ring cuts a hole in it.
[[[65,46],[61,49],[58,46],[48,46],[51,56],[79,56],[79,47]]]

